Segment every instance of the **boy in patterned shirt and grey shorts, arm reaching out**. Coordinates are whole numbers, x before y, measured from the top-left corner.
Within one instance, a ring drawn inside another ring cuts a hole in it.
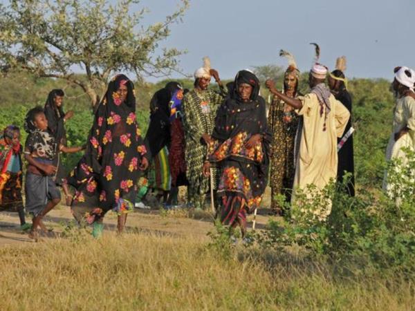
[[[25,185],[26,211],[33,214],[29,236],[37,241],[37,227],[46,232],[42,218],[61,198],[52,177],[57,171],[57,167],[53,166],[57,150],[77,152],[80,151],[80,147],[68,148],[60,145],[59,149],[57,148],[55,138],[48,131],[48,120],[44,110],[40,106],[28,111],[24,126],[29,134],[24,149],[24,158],[28,162]]]

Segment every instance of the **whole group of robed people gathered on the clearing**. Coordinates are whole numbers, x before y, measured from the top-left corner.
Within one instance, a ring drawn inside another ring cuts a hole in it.
[[[8,126],[0,140],[1,209],[19,211],[22,229],[30,227],[30,237],[37,239],[48,234],[42,218],[59,202],[60,186],[75,219],[81,225],[92,224],[93,236],[98,237],[110,210],[118,214],[122,232],[137,198],[146,195],[140,190],[147,191],[151,181],[150,188],[160,190],[158,198],[166,204],[174,203],[178,187],[186,185],[188,206],[203,209],[210,191],[221,223],[240,227],[245,234],[246,214],[259,207],[268,176],[275,214],[284,214],[280,194],[295,202],[297,189],[311,184],[323,189],[331,180],[342,181],[345,173],[349,173],[345,191],[354,196],[345,58],[340,57],[329,73],[319,63],[317,45],[315,50],[308,75],[311,91],[305,95],[299,93],[301,75],[293,55],[281,51],[289,64],[282,91],[272,79],[266,81],[273,95],[269,111],[254,73],[240,70],[234,82],[224,86],[205,57],[203,67],[194,73],[192,91],[169,82],[154,94],[144,139],[136,121],[133,82],[125,75],[109,82],[82,147],[67,146],[64,123],[73,113],[62,109],[64,93],[51,91],[44,109],[35,107],[26,115],[24,148],[17,126]],[[217,90],[209,88],[212,77]],[[414,85],[413,70],[396,68],[393,86],[398,101],[388,159],[403,157],[402,147],[414,148]],[[66,174],[60,154],[81,150],[82,158]],[[28,164],[25,207],[33,215],[31,226],[25,222],[21,198],[21,155]],[[140,176],[147,181],[138,182]],[[70,194],[69,186],[75,194]],[[323,218],[330,212],[330,204],[322,207]]]

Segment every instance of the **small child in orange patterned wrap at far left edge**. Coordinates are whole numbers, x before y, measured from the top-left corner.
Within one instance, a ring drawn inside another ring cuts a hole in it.
[[[21,150],[19,128],[7,126],[0,138],[0,211],[17,211],[20,229],[27,230],[30,224],[25,221],[21,198]]]

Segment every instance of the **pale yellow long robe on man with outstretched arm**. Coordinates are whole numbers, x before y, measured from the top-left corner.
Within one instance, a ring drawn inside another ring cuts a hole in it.
[[[337,176],[337,138],[342,137],[350,113],[333,95],[329,97],[331,111],[327,113],[326,120],[324,115],[320,115],[317,95],[308,93],[300,100],[303,106],[297,113],[303,117],[303,126],[294,187],[304,189],[313,184],[317,189],[323,189],[331,178]],[[326,131],[323,130],[324,122]],[[295,200],[295,196],[292,200]]]

